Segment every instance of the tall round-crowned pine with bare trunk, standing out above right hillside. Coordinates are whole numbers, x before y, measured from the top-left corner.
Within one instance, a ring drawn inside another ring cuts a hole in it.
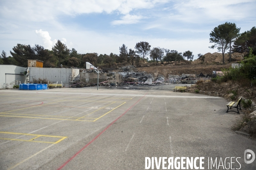
[[[214,43],[214,45],[210,46],[209,48],[217,48],[218,51],[222,52],[223,64],[225,64],[225,51],[229,47],[230,41],[233,40],[232,37],[235,36],[235,32],[237,31],[237,29],[238,28],[236,28],[235,23],[226,22],[224,24],[219,25],[218,27],[215,27],[213,31],[210,33],[210,43]]]

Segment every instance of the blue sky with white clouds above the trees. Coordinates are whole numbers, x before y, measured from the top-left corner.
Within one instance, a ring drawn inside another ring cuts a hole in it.
[[[52,49],[57,40],[79,53],[119,54],[146,41],[154,47],[217,52],[209,34],[225,22],[256,26],[256,0],[0,0],[0,51],[17,44]]]

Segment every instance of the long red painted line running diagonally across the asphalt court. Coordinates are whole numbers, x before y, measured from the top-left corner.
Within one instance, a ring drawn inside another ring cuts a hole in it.
[[[146,94],[145,94],[146,95]],[[145,95],[143,97],[145,97]],[[142,97],[142,98],[143,98]],[[111,125],[113,125],[114,122],[116,122],[120,117],[122,117],[125,113],[127,113],[131,108],[134,107],[134,105],[136,105],[138,102],[140,102],[140,100],[142,99],[140,98],[136,103],[134,103],[130,108],[128,108],[124,113],[122,113],[121,116],[119,116],[118,118],[116,118],[116,120],[114,120],[110,125],[108,125],[104,130],[102,130],[101,133],[99,133],[93,140],[91,140],[89,143],[87,143],[83,148],[81,148],[81,150],[79,150],[75,155],[73,155],[69,160],[67,160],[64,164],[62,164],[57,170],[61,170],[64,166],[66,166],[73,158],[75,158],[82,150],[84,150],[87,146],[89,146],[89,144],[91,144],[93,141],[95,141],[103,132],[105,132]]]

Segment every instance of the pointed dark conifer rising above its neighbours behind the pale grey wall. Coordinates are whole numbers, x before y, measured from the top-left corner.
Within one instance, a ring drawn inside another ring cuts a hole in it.
[[[52,47],[53,53],[58,57],[58,66],[61,66],[61,60],[67,59],[69,56],[70,50],[67,46],[62,43],[60,40],[56,42],[56,44]]]

